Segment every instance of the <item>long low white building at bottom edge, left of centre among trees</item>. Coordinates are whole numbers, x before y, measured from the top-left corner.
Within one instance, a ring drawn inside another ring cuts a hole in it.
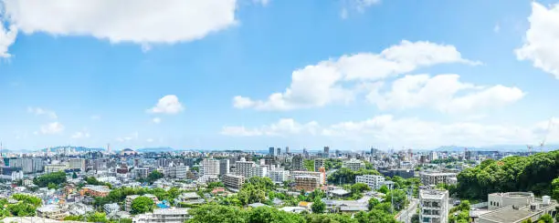
[[[183,223],[188,218],[188,208],[157,208],[153,213],[135,216],[132,223]]]

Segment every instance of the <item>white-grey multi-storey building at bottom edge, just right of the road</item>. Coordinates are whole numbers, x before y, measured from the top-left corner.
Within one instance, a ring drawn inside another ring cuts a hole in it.
[[[421,223],[448,222],[448,190],[420,190],[419,208]]]

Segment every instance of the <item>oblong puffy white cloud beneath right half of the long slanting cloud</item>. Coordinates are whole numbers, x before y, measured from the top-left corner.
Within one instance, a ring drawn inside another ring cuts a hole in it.
[[[460,93],[460,94],[459,94]],[[459,81],[459,75],[404,76],[392,83],[390,91],[374,88],[367,99],[381,109],[427,106],[448,113],[465,113],[506,106],[525,93],[517,87],[475,86]]]

